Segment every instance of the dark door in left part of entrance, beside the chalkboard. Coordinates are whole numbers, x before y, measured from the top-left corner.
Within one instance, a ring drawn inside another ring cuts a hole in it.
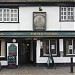
[[[19,46],[19,65],[25,65],[30,62],[30,41],[23,41]]]

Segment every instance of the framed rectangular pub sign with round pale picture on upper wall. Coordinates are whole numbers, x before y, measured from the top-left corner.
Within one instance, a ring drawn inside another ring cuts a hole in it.
[[[46,12],[33,12],[33,29],[36,31],[46,29]]]

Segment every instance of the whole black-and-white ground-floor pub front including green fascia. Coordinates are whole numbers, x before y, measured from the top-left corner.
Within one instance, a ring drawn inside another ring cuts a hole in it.
[[[54,62],[59,64],[70,63],[71,56],[75,59],[75,32],[0,32],[0,62],[2,66],[46,64],[50,53]]]

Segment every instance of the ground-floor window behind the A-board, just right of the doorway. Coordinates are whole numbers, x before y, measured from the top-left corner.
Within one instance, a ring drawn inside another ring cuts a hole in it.
[[[57,55],[57,40],[56,39],[43,39],[40,41],[40,50],[42,56],[48,56],[49,53]]]

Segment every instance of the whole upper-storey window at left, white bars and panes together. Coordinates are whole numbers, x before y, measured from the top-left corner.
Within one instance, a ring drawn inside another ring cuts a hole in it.
[[[0,22],[18,22],[18,9],[0,8]]]

